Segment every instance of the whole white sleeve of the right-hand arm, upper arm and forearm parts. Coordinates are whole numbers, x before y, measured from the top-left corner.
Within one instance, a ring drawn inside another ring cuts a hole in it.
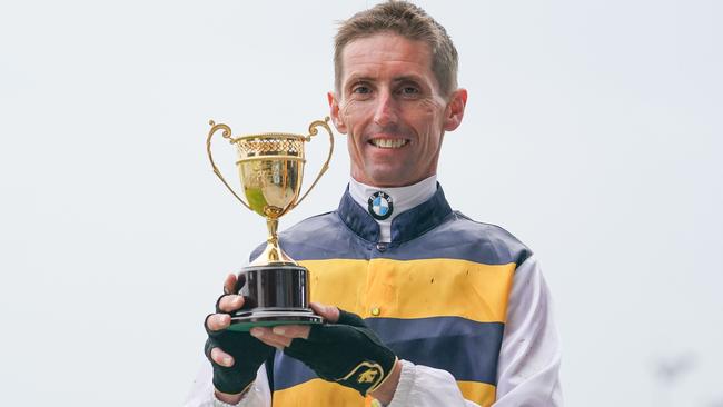
[[[515,271],[497,366],[495,407],[562,406],[559,344],[551,295],[534,257]],[[404,361],[388,407],[476,406],[444,370]]]

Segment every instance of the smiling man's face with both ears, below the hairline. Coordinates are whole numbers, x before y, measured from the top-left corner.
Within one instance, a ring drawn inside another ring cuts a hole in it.
[[[436,173],[443,135],[459,126],[467,93],[439,93],[429,47],[379,33],[349,42],[341,64],[329,106],[347,135],[354,179],[402,187]]]

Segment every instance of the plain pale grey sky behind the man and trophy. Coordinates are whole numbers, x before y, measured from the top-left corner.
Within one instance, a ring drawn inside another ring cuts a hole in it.
[[[0,404],[181,403],[265,236],[207,121],[304,132],[335,21],[373,3],[0,3]],[[722,3],[419,3],[469,91],[439,180],[542,259],[567,405],[722,406]],[[336,207],[345,142],[281,227]]]

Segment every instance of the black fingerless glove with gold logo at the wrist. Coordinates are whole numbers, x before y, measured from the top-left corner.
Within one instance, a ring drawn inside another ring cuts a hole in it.
[[[284,353],[361,396],[379,387],[397,360],[358,315],[340,309],[336,324],[311,326],[308,339],[294,339]]]

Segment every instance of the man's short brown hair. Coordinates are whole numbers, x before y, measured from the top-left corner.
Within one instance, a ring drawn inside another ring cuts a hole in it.
[[[432,71],[439,91],[449,96],[457,89],[457,49],[447,31],[422,8],[406,1],[387,1],[341,22],[334,38],[334,86],[341,87],[341,52],[354,40],[389,31],[414,41],[424,41],[432,51]]]

